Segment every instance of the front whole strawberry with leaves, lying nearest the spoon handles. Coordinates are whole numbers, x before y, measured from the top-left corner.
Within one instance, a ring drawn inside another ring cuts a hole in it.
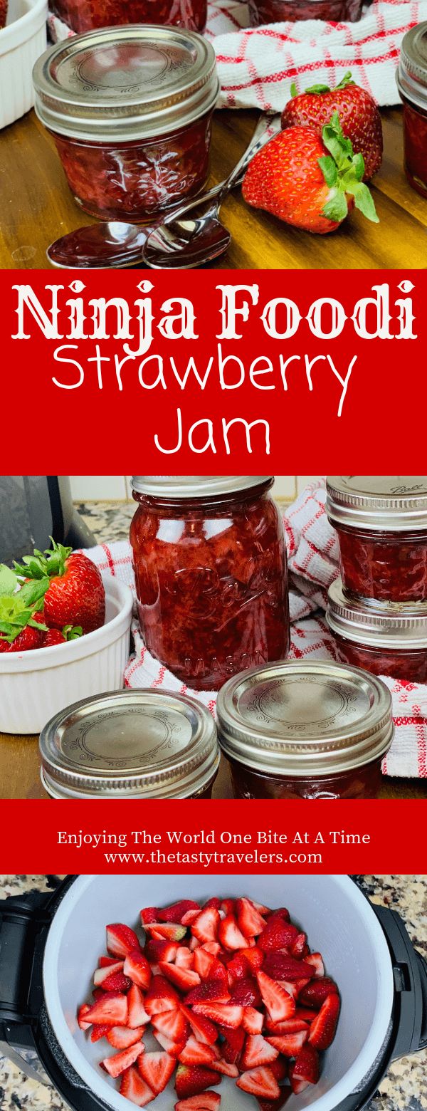
[[[365,163],[354,154],[335,112],[322,131],[295,127],[282,131],[252,159],[243,181],[243,197],[279,220],[323,236],[345,220],[356,206],[378,221],[367,186]]]

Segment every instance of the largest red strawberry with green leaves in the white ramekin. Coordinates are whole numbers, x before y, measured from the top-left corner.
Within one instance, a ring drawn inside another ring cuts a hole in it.
[[[18,574],[45,583],[43,611],[50,628],[78,625],[83,633],[99,629],[105,619],[105,591],[98,567],[71,548],[52,544],[52,550],[34,551],[16,563]]]

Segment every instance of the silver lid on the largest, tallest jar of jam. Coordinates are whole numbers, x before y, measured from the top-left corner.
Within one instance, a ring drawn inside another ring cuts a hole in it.
[[[214,498],[272,483],[271,474],[133,474],[132,489],[151,498]]]

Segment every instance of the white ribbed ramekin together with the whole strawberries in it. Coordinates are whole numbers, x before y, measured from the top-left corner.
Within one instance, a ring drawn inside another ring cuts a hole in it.
[[[0,730],[39,733],[71,702],[123,687],[132,591],[61,544],[0,567]]]

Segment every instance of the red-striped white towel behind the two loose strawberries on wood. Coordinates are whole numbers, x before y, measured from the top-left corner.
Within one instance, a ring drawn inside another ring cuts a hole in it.
[[[250,28],[246,3],[213,0],[206,38],[216,52],[220,107],[281,112],[293,81],[298,92],[335,86],[348,69],[378,104],[396,104],[400,42],[424,19],[427,0],[373,0],[357,23],[311,19]],[[54,16],[48,22],[53,42],[72,33]]]

